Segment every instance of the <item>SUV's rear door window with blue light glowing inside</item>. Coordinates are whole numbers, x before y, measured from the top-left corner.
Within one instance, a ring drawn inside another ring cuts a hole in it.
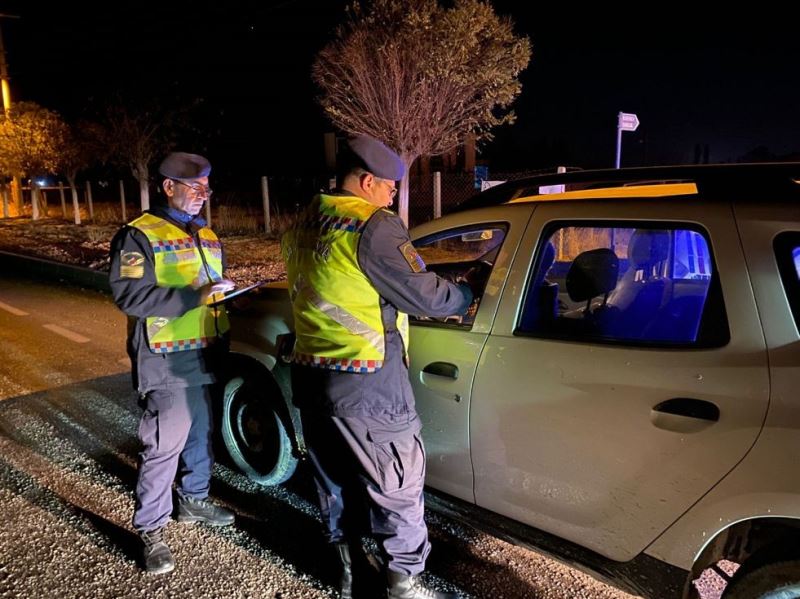
[[[688,225],[564,224],[537,251],[515,333],[646,346],[729,339],[711,244]]]

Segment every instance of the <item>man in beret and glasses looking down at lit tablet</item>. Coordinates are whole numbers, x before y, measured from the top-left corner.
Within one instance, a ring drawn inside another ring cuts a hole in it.
[[[125,225],[111,242],[109,282],[128,315],[133,385],[144,409],[133,526],[147,572],[175,568],[164,540],[178,479],[179,522],[233,523],[208,500],[213,454],[209,385],[227,351],[225,308],[209,304],[233,283],[222,276],[216,235],[199,216],[211,195],[211,165],[175,152],[161,163],[166,203]]]

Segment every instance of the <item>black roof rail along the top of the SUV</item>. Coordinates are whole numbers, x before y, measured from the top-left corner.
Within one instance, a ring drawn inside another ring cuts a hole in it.
[[[554,186],[563,186],[563,191],[553,194]],[[659,192],[654,189],[657,186],[665,188]],[[542,192],[543,187],[549,193]],[[619,188],[635,188],[641,193],[633,189],[624,193],[612,192]],[[497,206],[515,200],[536,202],[603,197],[680,196],[690,193],[712,195],[717,191],[738,194],[756,189],[781,191],[795,196],[800,192],[800,162],[653,166],[550,173],[496,185],[465,200],[452,212]],[[587,190],[606,191],[589,193]]]

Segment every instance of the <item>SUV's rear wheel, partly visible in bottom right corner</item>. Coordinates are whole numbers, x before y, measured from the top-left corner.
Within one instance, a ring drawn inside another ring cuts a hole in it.
[[[800,559],[742,566],[723,599],[796,599],[800,597]]]

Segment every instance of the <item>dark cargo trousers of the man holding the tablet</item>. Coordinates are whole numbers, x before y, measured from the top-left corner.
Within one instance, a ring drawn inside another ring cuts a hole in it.
[[[176,474],[181,495],[208,496],[214,464],[213,421],[206,386],[156,389],[147,393],[142,403],[139,439],[144,448],[139,454],[133,527],[151,531],[169,520]]]

